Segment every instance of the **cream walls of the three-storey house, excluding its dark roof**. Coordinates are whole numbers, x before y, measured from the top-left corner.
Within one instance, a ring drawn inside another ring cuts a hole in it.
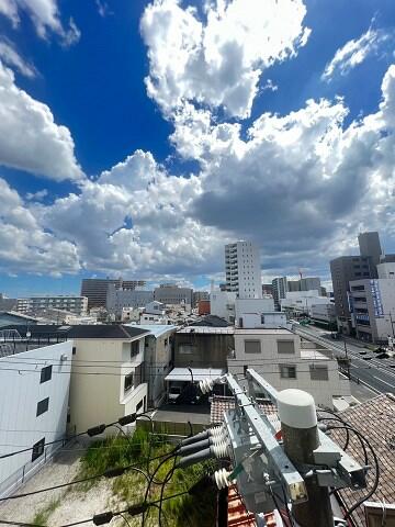
[[[131,343],[121,339],[81,338],[75,339],[75,347],[70,382],[70,430],[83,431],[134,412],[136,405],[147,396],[147,384],[143,383],[125,393],[124,383],[125,377],[135,372],[144,361],[144,338],[139,339],[138,355],[132,358]],[[102,374],[81,374],[92,371]]]

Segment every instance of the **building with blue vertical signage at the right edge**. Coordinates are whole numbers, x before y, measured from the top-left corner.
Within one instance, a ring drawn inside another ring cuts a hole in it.
[[[351,281],[349,302],[358,338],[386,343],[395,336],[394,278]]]

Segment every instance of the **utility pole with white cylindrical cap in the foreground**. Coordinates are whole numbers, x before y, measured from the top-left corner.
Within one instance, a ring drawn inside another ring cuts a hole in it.
[[[284,452],[297,468],[313,466],[314,450],[319,447],[314,399],[301,390],[284,390],[279,393],[278,411]],[[305,485],[308,501],[292,507],[296,522],[303,527],[334,527],[328,487],[318,485],[314,472],[305,476]]]

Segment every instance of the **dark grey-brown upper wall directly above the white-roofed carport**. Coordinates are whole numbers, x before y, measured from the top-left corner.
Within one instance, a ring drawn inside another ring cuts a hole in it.
[[[174,368],[226,368],[226,359],[235,348],[233,335],[174,334]],[[185,350],[190,350],[188,354]]]

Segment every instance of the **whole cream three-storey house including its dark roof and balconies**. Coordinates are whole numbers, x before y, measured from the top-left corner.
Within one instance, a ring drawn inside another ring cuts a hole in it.
[[[74,340],[70,433],[147,408],[146,335],[145,329],[121,324],[69,327],[68,337]],[[94,375],[89,374],[92,371]]]

